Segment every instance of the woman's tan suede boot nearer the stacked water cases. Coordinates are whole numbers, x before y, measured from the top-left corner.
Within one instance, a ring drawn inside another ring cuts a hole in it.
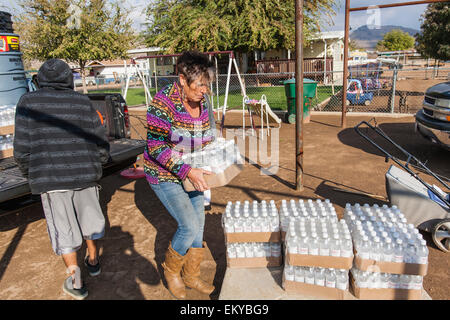
[[[192,289],[196,289],[204,294],[211,294],[214,291],[214,286],[207,284],[200,279],[200,263],[203,261],[203,248],[190,248],[186,254],[186,263],[183,266],[181,275],[184,284]]]

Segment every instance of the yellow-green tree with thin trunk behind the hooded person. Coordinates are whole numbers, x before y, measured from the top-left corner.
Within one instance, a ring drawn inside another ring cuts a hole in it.
[[[126,58],[135,39],[129,12],[116,1],[21,0],[20,6],[16,26],[25,57],[77,63],[84,93],[87,63]]]

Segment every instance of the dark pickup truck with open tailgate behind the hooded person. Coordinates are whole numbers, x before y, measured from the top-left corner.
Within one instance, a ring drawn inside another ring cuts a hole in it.
[[[128,107],[121,94],[99,93],[87,95],[92,105],[103,118],[110,143],[111,159],[103,166],[103,177],[136,162],[137,156],[144,152],[146,142],[131,139]],[[22,176],[14,158],[0,160],[0,209],[17,208],[33,202],[26,178]]]

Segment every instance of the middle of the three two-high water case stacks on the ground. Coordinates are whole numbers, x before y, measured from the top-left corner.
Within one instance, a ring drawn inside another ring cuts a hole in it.
[[[285,233],[283,288],[325,299],[345,299],[353,245],[344,220],[338,221],[329,200],[283,200],[280,210]]]

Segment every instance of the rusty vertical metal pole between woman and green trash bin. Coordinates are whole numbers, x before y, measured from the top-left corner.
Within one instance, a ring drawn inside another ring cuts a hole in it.
[[[295,1],[296,190],[303,191],[303,0]]]

